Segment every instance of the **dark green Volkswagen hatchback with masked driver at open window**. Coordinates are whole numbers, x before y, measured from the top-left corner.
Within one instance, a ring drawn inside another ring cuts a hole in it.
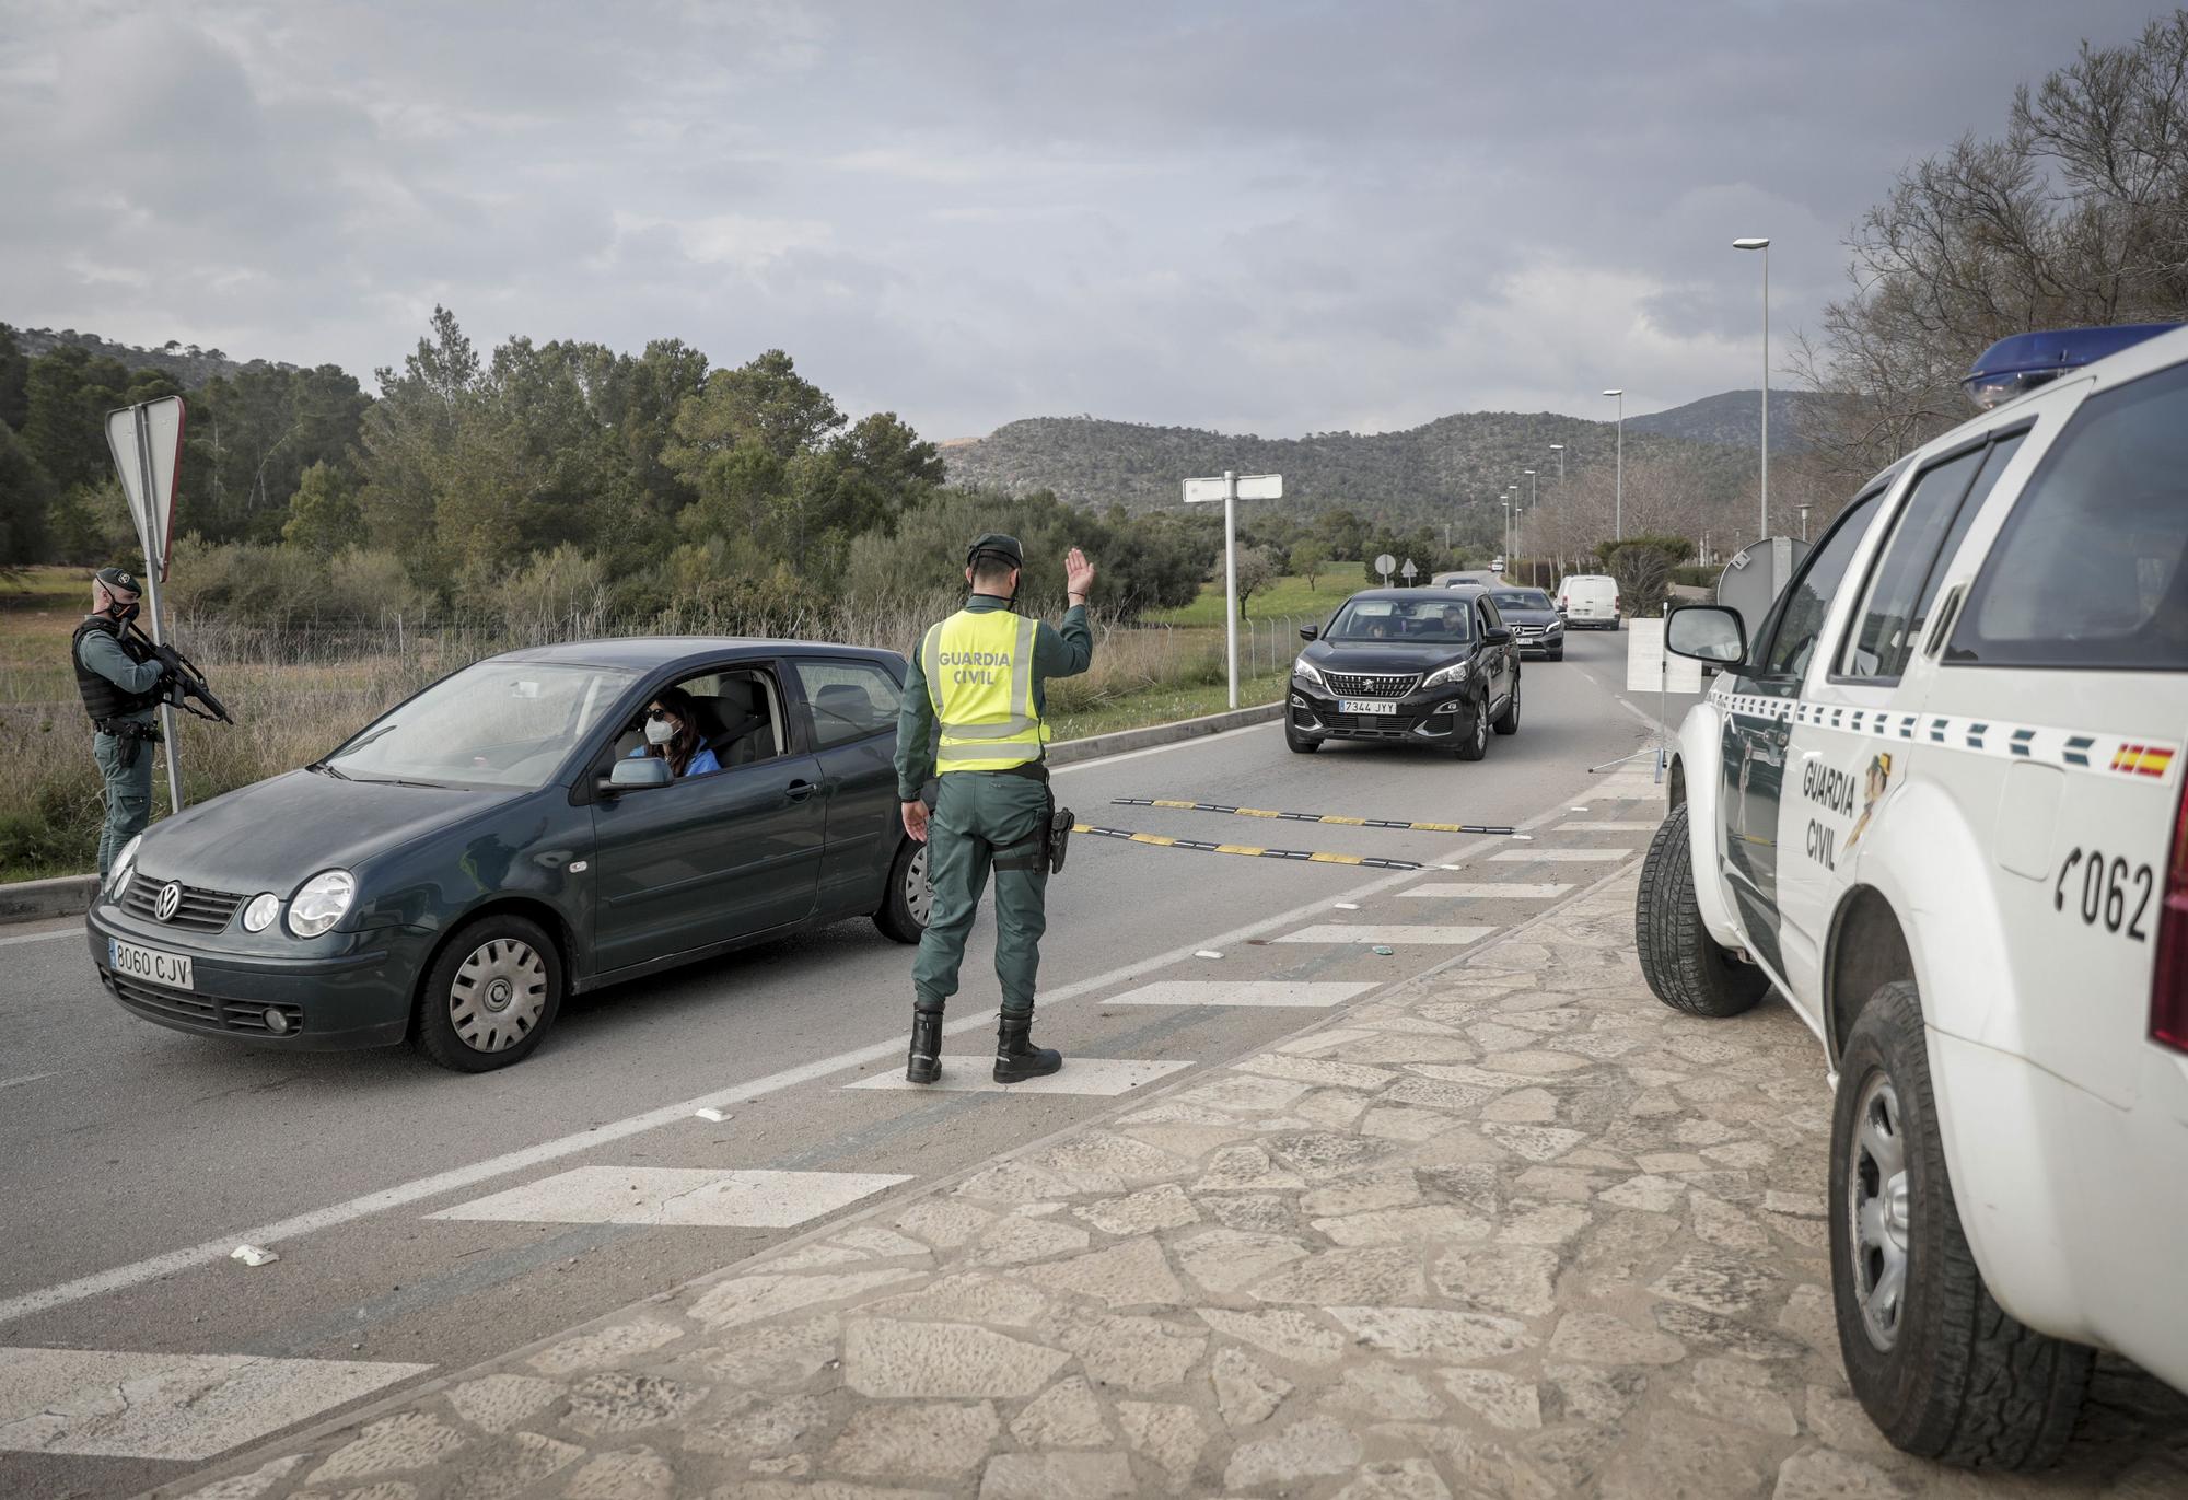
[[[409,1039],[484,1071],[532,1052],[578,991],[847,916],[917,942],[930,892],[897,820],[901,691],[901,656],[849,645],[492,656],[324,761],[153,824],[85,918],[92,962],[175,1030]],[[635,754],[665,693],[696,739],[680,776]]]

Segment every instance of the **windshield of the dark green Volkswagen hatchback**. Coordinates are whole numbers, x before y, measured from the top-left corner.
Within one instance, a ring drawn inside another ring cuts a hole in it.
[[[536,789],[635,680],[615,667],[484,660],[368,724],[319,767],[350,781]]]

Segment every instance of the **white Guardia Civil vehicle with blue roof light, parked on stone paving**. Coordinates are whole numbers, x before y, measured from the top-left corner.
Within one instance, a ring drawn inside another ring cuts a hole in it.
[[[2094,1349],[2188,1388],[2188,330],[2022,335],[1866,485],[1678,735],[1656,995],[1823,1039],[1831,1288],[1877,1428],[2065,1445]]]

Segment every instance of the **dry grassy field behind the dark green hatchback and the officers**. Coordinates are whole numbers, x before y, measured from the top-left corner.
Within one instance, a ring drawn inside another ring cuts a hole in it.
[[[90,608],[81,573],[33,569],[0,579],[0,881],[90,870],[103,813],[92,737],[68,665],[68,636]],[[845,608],[785,634],[908,649],[945,612]],[[1057,739],[1188,719],[1225,706],[1221,606],[1206,625],[1096,630],[1094,667],[1048,687]],[[648,630],[663,628],[645,621]],[[674,634],[740,634],[737,621],[670,621]],[[177,641],[212,678],[236,724],[182,722],[186,800],[199,802],[315,761],[427,682],[540,638],[626,634],[565,621],[538,636],[492,623],[435,630],[254,630],[182,621]],[[1297,638],[1256,619],[1238,641],[1243,704],[1276,702]],[[166,772],[153,781],[164,809]]]

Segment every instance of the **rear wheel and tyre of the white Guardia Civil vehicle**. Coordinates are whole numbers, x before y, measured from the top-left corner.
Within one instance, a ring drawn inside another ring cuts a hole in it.
[[[2096,1353],[2015,1321],[1982,1284],[1906,980],[1877,988],[1840,1058],[1829,1222],[1838,1347],[1877,1430],[1939,1463],[2055,1463]]]

